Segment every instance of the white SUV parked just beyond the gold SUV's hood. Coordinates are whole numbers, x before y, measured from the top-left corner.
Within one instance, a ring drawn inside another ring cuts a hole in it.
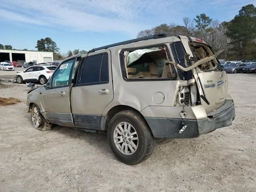
[[[42,85],[46,84],[56,68],[56,66],[31,66],[23,72],[17,72],[17,83],[40,82]]]

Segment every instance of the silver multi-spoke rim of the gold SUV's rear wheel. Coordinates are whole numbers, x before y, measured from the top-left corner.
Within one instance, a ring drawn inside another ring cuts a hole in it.
[[[114,129],[114,144],[125,155],[132,155],[138,149],[139,139],[135,128],[128,122],[120,122]]]

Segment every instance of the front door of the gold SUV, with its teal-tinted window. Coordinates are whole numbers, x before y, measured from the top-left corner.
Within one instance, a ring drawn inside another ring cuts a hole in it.
[[[69,91],[70,72],[74,61],[75,58],[72,58],[58,66],[50,78],[50,88],[42,93],[45,114],[51,123],[73,126]]]

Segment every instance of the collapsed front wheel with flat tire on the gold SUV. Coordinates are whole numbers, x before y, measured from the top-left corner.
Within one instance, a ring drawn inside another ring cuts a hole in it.
[[[52,129],[52,124],[48,123],[44,117],[40,114],[40,108],[33,104],[32,110],[31,110],[31,121],[32,126],[40,131],[49,131]]]

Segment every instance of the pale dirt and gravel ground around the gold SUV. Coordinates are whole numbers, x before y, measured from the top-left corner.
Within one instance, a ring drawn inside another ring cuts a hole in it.
[[[0,76],[1,78],[1,76]],[[0,97],[0,191],[255,192],[256,74],[228,74],[233,125],[195,139],[158,142],[136,166],[116,160],[102,134],[55,126],[41,132],[26,113],[25,84],[6,83]]]

